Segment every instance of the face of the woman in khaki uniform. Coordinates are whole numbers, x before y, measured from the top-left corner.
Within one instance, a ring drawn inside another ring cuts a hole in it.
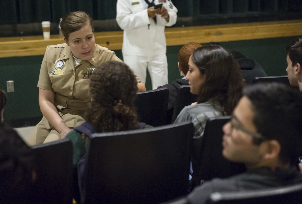
[[[85,60],[92,58],[95,51],[95,38],[89,23],[80,30],[69,33],[68,40],[66,38],[64,40],[76,58]]]

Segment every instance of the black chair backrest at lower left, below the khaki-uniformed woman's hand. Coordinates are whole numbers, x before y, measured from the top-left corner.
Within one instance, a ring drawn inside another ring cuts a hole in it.
[[[72,203],[72,143],[61,139],[31,147],[37,180],[33,203]]]

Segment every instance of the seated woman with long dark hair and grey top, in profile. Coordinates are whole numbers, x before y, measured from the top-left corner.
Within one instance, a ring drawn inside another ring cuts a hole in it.
[[[206,45],[193,51],[189,59],[190,91],[197,94],[197,104],[186,106],[174,123],[192,121],[192,168],[197,170],[201,137],[209,117],[230,115],[238,103],[244,86],[238,62],[220,45]]]

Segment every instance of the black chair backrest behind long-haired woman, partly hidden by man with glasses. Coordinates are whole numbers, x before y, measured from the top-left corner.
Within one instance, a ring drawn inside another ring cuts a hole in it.
[[[230,116],[208,118],[203,137],[193,144],[199,149],[196,158],[198,166],[193,171],[191,188],[200,185],[201,180],[226,178],[246,171],[243,164],[231,162],[222,155],[222,126],[229,120]]]

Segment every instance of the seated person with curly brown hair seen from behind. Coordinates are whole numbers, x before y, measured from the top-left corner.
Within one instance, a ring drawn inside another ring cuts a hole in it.
[[[89,82],[91,101],[85,111],[85,122],[67,133],[72,141],[74,165],[74,199],[80,202],[77,189],[77,165],[86,153],[86,140],[95,132],[114,132],[145,128],[138,122],[134,100],[137,93],[136,76],[123,62],[108,61],[94,70]],[[85,160],[81,163],[83,173]],[[79,180],[81,181],[81,180]]]

